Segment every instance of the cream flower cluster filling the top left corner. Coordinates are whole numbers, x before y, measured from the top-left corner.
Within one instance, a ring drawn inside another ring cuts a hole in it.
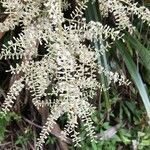
[[[40,0],[1,0],[8,18],[0,23],[0,31],[4,32],[14,29],[16,25],[22,23],[29,25],[40,13]]]

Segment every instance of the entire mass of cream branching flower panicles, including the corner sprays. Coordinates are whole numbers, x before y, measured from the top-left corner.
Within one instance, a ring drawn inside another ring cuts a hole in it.
[[[55,121],[67,114],[68,121],[61,138],[72,137],[79,145],[82,140],[77,132],[78,118],[84,122],[87,136],[95,140],[91,114],[94,107],[89,103],[96,90],[107,90],[99,83],[98,74],[104,73],[111,82],[128,85],[124,75],[108,71],[98,63],[98,58],[107,51],[112,42],[121,39],[123,31],[133,33],[130,22],[132,14],[150,25],[150,11],[138,6],[132,0],[98,0],[103,17],[112,13],[115,27],[100,22],[87,22],[84,10],[88,0],[76,0],[76,8],[64,17],[63,11],[71,7],[67,0],[1,0],[8,17],[0,23],[0,32],[22,26],[18,38],[3,46],[0,59],[19,59],[16,66],[10,66],[11,74],[20,77],[10,87],[1,106],[3,115],[10,111],[17,96],[27,88],[33,104],[38,108],[48,106],[50,114],[37,139],[37,149],[55,125]],[[99,49],[93,44],[99,42]],[[109,42],[111,41],[111,43]],[[88,43],[89,43],[88,42]],[[39,59],[39,46],[45,51]],[[108,87],[109,88],[109,87]],[[51,97],[55,97],[52,100]]]

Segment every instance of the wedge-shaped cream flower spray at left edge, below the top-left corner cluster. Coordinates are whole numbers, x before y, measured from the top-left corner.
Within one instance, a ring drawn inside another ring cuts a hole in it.
[[[37,29],[33,25],[26,28],[19,38],[13,38],[8,42],[8,46],[2,48],[0,59],[31,59],[37,56],[37,39],[39,35]]]

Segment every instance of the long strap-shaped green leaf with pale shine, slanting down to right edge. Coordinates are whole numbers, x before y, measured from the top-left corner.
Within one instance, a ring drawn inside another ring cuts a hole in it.
[[[125,44],[122,41],[117,41],[116,46],[120,50],[120,53],[121,53],[122,57],[124,58],[126,67],[128,68],[128,71],[129,71],[135,85],[137,86],[137,88],[139,90],[139,93],[141,95],[141,98],[143,100],[143,103],[144,103],[144,106],[146,108],[147,115],[149,118],[148,123],[150,124],[150,101],[149,101],[149,97],[147,95],[146,89],[144,87],[144,83],[141,79],[141,76],[140,76],[139,72],[137,71],[136,65],[133,62],[130,54],[126,50]]]

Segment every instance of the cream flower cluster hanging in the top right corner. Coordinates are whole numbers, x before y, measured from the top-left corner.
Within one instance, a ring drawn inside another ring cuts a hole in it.
[[[108,13],[112,13],[115,18],[115,24],[118,30],[128,29],[132,34],[135,27],[130,21],[131,15],[137,15],[142,21],[147,22],[150,25],[150,11],[148,8],[141,6],[138,7],[138,3],[133,3],[132,0],[98,0],[99,8],[104,17],[108,16]]]

